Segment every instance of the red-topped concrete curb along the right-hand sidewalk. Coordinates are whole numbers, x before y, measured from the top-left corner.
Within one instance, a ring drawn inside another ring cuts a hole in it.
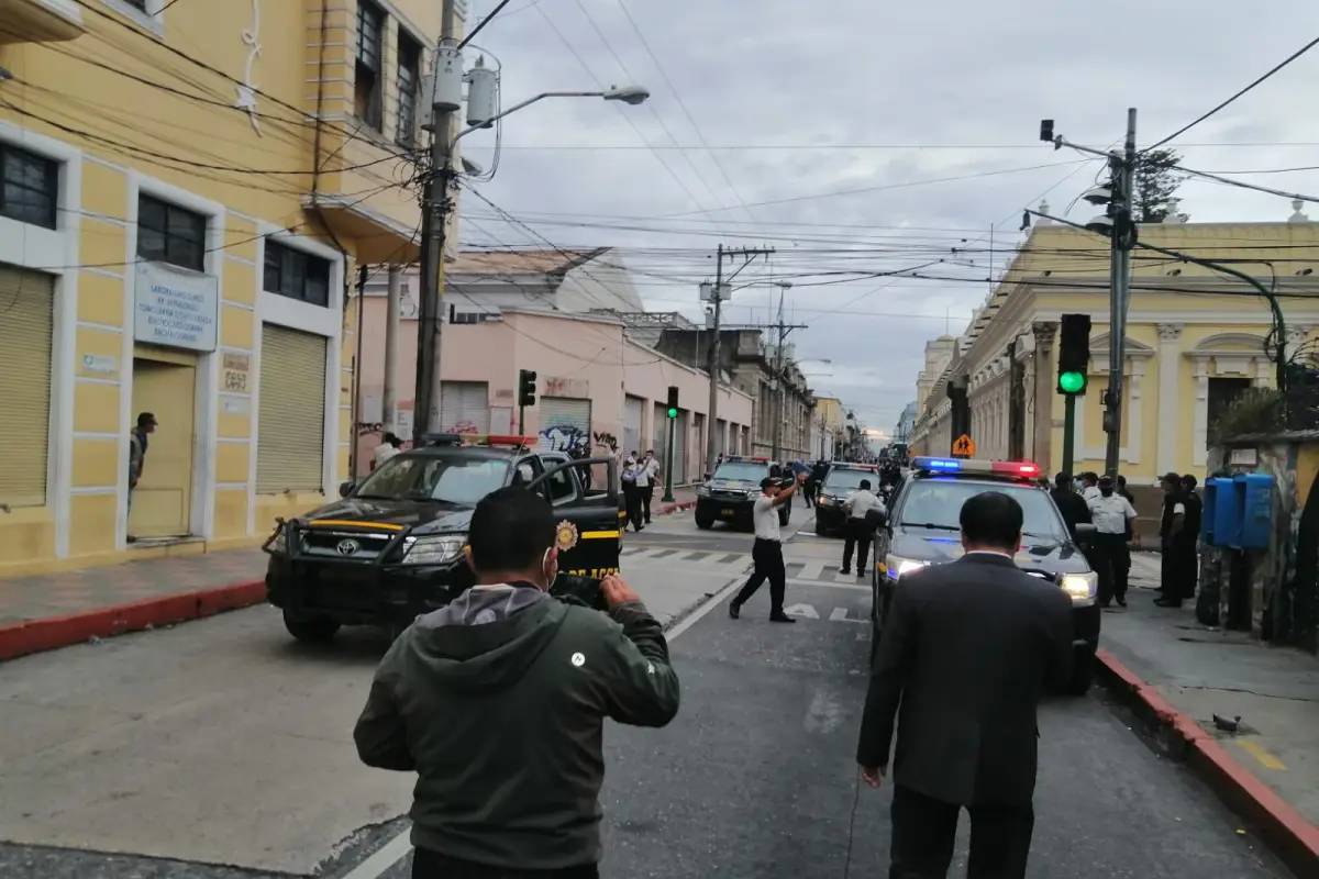
[[[1173,708],[1158,691],[1107,650],[1097,654],[1100,675],[1151,722],[1173,755],[1183,759],[1298,876],[1319,876],[1319,828],[1310,824],[1268,784],[1237,763],[1217,738]]]

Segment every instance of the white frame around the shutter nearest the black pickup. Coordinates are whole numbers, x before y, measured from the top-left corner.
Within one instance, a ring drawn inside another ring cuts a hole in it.
[[[343,356],[343,283],[346,274],[344,257],[334,248],[321,244],[313,239],[290,233],[285,228],[269,223],[257,223],[256,242],[256,331],[252,340],[252,374],[256,381],[252,386],[252,455],[248,460],[248,534],[256,528],[256,461],[257,440],[261,435],[261,329],[265,324],[273,323],[289,329],[301,329],[326,339],[326,420],[324,438],[321,451],[321,493],[338,497],[332,486],[335,482],[335,469],[339,464],[339,419],[342,416],[339,406],[339,389],[343,383],[342,356]],[[274,239],[286,248],[302,250],[309,256],[330,261],[330,306],[313,306],[307,302],[298,302],[277,293],[265,291],[265,242]],[[348,407],[351,410],[351,406]]]

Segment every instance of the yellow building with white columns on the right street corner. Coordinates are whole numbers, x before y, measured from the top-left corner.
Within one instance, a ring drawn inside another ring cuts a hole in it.
[[[1298,221],[1302,220],[1302,221]],[[1319,328],[1319,224],[1167,223],[1142,225],[1141,241],[1229,261],[1279,294],[1287,345]],[[1265,353],[1273,318],[1245,282],[1162,254],[1133,252],[1122,382],[1120,469],[1133,486],[1170,470],[1206,477],[1210,426],[1250,386],[1273,386]],[[1037,227],[1002,282],[956,340],[948,364],[919,401],[913,447],[946,455],[950,380],[964,380],[979,457],[1026,457],[1062,467],[1063,397],[1057,393],[1058,320],[1088,314],[1088,393],[1078,401],[1074,470],[1104,469],[1103,395],[1109,369],[1108,240],[1071,227]],[[1014,399],[1016,398],[1016,399]],[[1041,416],[1041,414],[1043,414]]]

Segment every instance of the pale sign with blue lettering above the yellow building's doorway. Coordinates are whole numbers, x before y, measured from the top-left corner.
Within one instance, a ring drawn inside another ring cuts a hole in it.
[[[220,287],[216,278],[160,262],[137,264],[133,339],[149,345],[215,351]]]

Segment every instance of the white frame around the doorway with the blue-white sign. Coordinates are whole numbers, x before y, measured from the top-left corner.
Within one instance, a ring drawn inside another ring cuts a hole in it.
[[[189,192],[165,181],[146,177],[137,171],[128,171],[128,227],[124,232],[124,333],[123,353],[120,356],[120,386],[124,391],[119,395],[119,436],[120,441],[127,441],[129,431],[136,426],[136,412],[133,411],[133,343],[136,341],[133,326],[136,323],[136,266],[142,262],[137,256],[137,202],[138,196],[146,195],[162,202],[171,202],[181,208],[186,208],[206,217],[206,271],[215,278],[216,287],[223,299],[224,291],[224,227],[227,211],[219,202]],[[223,319],[223,304],[219,308]],[[193,389],[193,405],[197,410],[193,423],[193,499],[189,511],[189,531],[193,535],[210,540],[215,534],[215,463],[216,463],[216,427],[219,423],[220,406],[220,353],[219,340],[224,327],[216,328],[215,351],[199,351],[197,353],[197,385]],[[119,506],[115,513],[115,543],[120,551],[125,550],[128,536],[128,456],[119,456]]]

